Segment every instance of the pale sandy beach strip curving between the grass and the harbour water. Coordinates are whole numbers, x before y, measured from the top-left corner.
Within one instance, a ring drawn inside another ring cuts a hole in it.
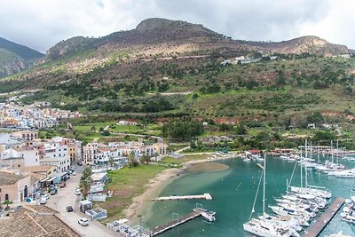
[[[146,191],[133,198],[130,206],[123,210],[123,214],[132,223],[137,223],[140,216],[143,216],[144,212],[148,212],[153,205],[151,199],[155,198],[158,194],[162,193],[162,189],[168,186],[176,178],[180,178],[184,175],[185,171],[194,164],[199,164],[203,162],[216,162],[226,159],[233,159],[240,156],[240,154],[233,154],[231,156],[217,156],[207,159],[201,159],[196,161],[189,161],[183,163],[183,167],[180,169],[172,168],[169,170],[163,170],[154,178],[150,179],[146,185]]]

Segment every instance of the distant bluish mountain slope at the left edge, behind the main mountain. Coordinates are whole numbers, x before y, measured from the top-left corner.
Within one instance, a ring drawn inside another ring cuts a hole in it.
[[[43,53],[0,37],[0,77],[13,75],[33,65]]]

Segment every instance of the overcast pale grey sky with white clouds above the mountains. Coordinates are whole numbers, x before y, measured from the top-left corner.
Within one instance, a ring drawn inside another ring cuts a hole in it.
[[[1,0],[0,36],[45,52],[73,36],[106,36],[159,17],[233,39],[319,36],[355,49],[354,10],[353,0]]]

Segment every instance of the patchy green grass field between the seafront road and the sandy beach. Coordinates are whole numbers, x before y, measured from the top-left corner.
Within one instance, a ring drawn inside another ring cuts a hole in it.
[[[105,202],[98,202],[96,206],[107,209],[106,222],[123,217],[122,210],[126,209],[133,197],[143,194],[149,179],[165,170],[161,165],[143,165],[135,168],[125,167],[121,170],[110,171],[110,182],[107,189],[113,190],[114,194]]]

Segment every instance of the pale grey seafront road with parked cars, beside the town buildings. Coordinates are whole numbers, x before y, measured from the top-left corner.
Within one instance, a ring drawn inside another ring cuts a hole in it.
[[[114,232],[95,220],[90,221],[89,226],[82,226],[77,223],[79,218],[87,216],[80,212],[78,203],[80,197],[74,194],[75,187],[79,186],[83,166],[77,166],[76,172],[76,176],[71,176],[71,178],[67,180],[66,187],[59,188],[58,194],[51,195],[51,198],[47,201],[46,205],[51,209],[59,211],[60,219],[81,236],[121,236],[119,233]],[[67,206],[72,206],[74,211],[67,212]]]

